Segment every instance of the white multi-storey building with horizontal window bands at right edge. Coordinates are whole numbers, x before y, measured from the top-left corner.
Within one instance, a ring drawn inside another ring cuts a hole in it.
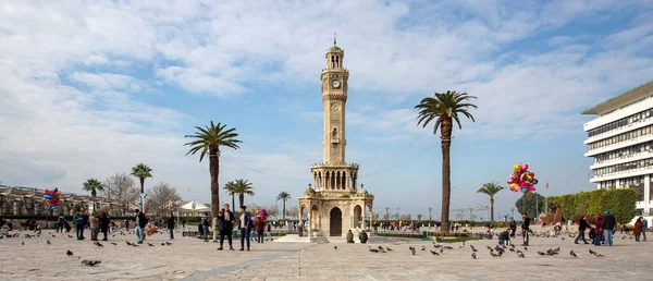
[[[586,157],[592,157],[591,180],[596,188],[632,188],[637,215],[653,215],[653,81],[599,103],[582,114]]]

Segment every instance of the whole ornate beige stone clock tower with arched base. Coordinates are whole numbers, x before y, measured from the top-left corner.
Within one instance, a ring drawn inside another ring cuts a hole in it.
[[[372,212],[374,196],[358,188],[358,164],[345,161],[345,103],[349,71],[344,68],[345,51],[336,46],[326,50],[326,68],[322,69],[322,105],[324,109],[323,161],[310,168],[312,183],[299,197],[299,216],[308,217],[312,236],[343,236],[366,228],[366,210]],[[371,222],[370,222],[371,223]],[[368,224],[369,225],[369,224]]]

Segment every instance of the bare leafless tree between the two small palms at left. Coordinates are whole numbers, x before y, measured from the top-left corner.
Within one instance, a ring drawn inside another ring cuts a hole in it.
[[[103,190],[100,191],[102,197],[110,201],[119,203],[119,209],[122,215],[128,212],[130,204],[138,200],[138,190],[136,182],[126,173],[115,173],[104,180]]]

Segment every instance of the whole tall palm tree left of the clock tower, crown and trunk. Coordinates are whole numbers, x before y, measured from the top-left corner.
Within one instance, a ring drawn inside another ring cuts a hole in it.
[[[238,134],[236,129],[226,129],[226,124],[218,123],[213,124],[213,121],[205,127],[196,126],[197,132],[194,135],[186,135],[185,137],[194,138],[193,142],[184,145],[189,146],[190,149],[186,155],[195,155],[199,151],[199,161],[204,160],[206,155],[209,155],[209,172],[211,174],[211,216],[213,225],[213,240],[218,237],[218,212],[220,211],[220,184],[218,178],[220,175],[220,147],[225,146],[233,149],[241,148],[236,139]]]

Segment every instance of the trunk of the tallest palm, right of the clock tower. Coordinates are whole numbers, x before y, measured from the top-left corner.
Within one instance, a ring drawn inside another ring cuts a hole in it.
[[[452,171],[451,171],[451,147],[452,147],[452,120],[443,119],[441,123],[442,144],[442,222],[440,230],[449,232],[448,211],[452,196]]]

